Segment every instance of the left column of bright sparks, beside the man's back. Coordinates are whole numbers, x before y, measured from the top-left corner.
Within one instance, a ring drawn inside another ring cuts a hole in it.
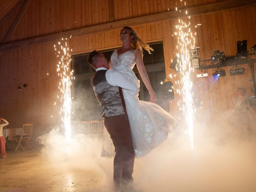
[[[62,38],[61,42],[58,42],[58,45],[54,45],[56,50],[57,57],[59,58],[57,64],[57,72],[58,76],[60,76],[61,80],[59,82],[58,88],[60,90],[60,96],[57,95],[58,99],[62,103],[60,108],[60,116],[62,121],[62,128],[65,128],[65,136],[67,142],[70,142],[70,112],[71,112],[71,78],[73,75],[73,71],[70,69],[70,54],[69,48],[67,46],[67,42]],[[56,102],[54,102],[54,105]]]

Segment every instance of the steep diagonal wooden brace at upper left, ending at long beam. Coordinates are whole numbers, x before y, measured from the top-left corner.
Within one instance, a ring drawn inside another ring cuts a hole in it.
[[[20,9],[20,12],[18,13],[18,15],[16,16],[15,20],[13,21],[12,26],[10,26],[8,32],[4,36],[4,40],[2,40],[2,44],[5,44],[6,42],[9,41],[10,36],[12,36],[14,30],[18,26],[18,24],[20,22],[20,19],[22,18],[24,12],[27,10],[28,5],[30,4],[30,2],[31,2],[31,0],[25,0],[22,8]]]

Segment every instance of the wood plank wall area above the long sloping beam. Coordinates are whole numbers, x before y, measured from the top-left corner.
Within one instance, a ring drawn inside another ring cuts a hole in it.
[[[110,0],[32,0],[14,31],[10,42],[94,26],[109,22],[108,4]],[[114,21],[157,14],[210,4],[214,0],[111,0],[114,4]],[[222,1],[222,0],[221,0]],[[12,0],[12,4],[16,2]],[[186,6],[184,6],[186,2]],[[7,3],[5,2],[4,4]],[[17,10],[19,10],[17,8]],[[8,10],[8,6],[6,7]],[[2,14],[2,12],[1,12]],[[12,17],[16,14],[12,14]],[[0,15],[1,16],[1,15]],[[12,20],[6,20],[0,30],[0,40]]]

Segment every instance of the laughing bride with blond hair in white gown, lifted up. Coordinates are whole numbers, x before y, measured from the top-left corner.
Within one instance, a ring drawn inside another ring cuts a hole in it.
[[[177,123],[170,114],[154,103],[156,102],[156,94],[152,89],[142,60],[142,48],[149,53],[153,49],[145,44],[130,27],[122,28],[120,40],[122,41],[122,48],[114,50],[109,61],[110,68],[118,70],[140,87],[140,81],[132,71],[136,64],[150,95],[150,102],[141,101],[138,94],[134,95],[129,90],[122,89],[134,151],[138,158],[145,156],[161,144],[167,138],[168,133],[177,128]]]

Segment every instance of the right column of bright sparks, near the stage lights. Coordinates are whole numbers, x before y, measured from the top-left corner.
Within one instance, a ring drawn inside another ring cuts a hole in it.
[[[178,32],[175,35],[178,37],[177,57],[178,67],[180,71],[180,80],[178,80],[179,88],[176,90],[182,96],[182,101],[178,101],[178,106],[182,110],[186,118],[188,127],[188,136],[190,140],[191,149],[194,149],[193,132],[194,132],[194,112],[195,107],[193,103],[192,80],[191,72],[193,67],[190,62],[190,50],[195,47],[195,38],[190,29],[190,23],[186,24],[179,20],[178,25],[175,26]]]

